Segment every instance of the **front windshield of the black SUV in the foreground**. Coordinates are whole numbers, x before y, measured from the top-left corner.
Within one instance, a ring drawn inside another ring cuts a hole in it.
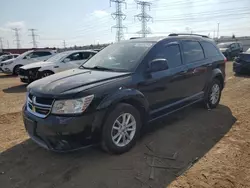
[[[145,42],[116,43],[104,48],[81,67],[101,67],[113,71],[134,71],[139,59],[153,45]]]

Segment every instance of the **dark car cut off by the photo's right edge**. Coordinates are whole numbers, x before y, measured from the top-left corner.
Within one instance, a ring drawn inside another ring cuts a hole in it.
[[[240,53],[233,62],[233,71],[236,74],[250,73],[250,48],[243,53]]]

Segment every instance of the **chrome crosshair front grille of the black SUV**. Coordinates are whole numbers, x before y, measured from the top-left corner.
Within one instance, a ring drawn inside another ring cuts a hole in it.
[[[36,97],[29,93],[27,95],[27,109],[35,116],[45,118],[50,113],[53,101],[53,99]]]

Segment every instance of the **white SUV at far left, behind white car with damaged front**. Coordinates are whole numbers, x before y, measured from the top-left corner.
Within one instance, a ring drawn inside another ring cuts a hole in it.
[[[19,55],[15,59],[10,59],[1,62],[0,69],[7,74],[18,75],[19,68],[34,63],[44,61],[53,56],[56,52],[53,50],[31,50]]]

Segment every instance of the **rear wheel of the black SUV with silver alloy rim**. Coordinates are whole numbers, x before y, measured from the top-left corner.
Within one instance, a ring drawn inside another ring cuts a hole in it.
[[[221,98],[221,91],[222,91],[222,83],[220,82],[220,80],[215,78],[209,85],[209,88],[205,94],[204,98],[205,108],[213,109],[218,106]]]

